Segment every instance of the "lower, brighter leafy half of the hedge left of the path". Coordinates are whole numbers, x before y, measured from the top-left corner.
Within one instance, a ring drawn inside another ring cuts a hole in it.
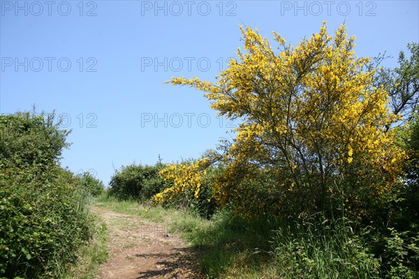
[[[50,169],[2,169],[0,176],[0,274],[34,278],[56,276],[62,263],[89,239],[89,215],[73,174]]]

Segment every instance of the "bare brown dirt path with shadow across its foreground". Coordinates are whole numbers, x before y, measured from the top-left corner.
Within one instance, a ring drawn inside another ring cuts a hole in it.
[[[108,226],[110,257],[96,279],[203,278],[195,252],[166,227],[93,206]]]

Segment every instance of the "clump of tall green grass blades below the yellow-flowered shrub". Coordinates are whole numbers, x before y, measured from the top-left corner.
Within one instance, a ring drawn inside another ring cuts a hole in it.
[[[379,262],[346,218],[308,216],[277,229],[270,254],[281,278],[379,278]]]

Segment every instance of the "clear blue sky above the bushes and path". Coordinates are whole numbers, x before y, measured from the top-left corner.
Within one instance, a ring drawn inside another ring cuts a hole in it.
[[[237,123],[202,93],[164,84],[214,80],[239,24],[296,45],[323,20],[346,22],[358,56],[386,66],[419,41],[418,1],[0,1],[0,113],[55,110],[72,129],[61,165],[105,184],[114,167],[198,158]]]

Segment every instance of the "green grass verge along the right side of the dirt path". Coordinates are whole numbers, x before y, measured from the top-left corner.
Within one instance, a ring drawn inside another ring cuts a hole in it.
[[[378,260],[344,219],[247,222],[220,211],[206,220],[191,210],[147,207],[105,195],[96,199],[96,206],[179,232],[198,250],[207,278],[378,278]]]

